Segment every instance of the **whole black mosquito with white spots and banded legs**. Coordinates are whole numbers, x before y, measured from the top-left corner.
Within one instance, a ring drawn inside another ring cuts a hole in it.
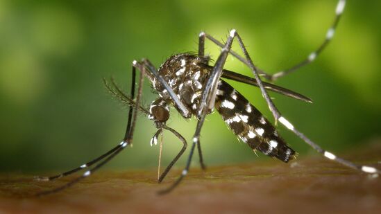
[[[230,128],[230,130],[232,130],[232,132],[252,150],[260,151],[269,157],[279,159],[285,163],[294,159],[296,154],[295,151],[285,142],[284,139],[282,139],[280,134],[278,134],[276,127],[272,125],[258,111],[258,109],[251,104],[251,102],[242,96],[241,93],[221,78],[235,80],[237,82],[259,87],[262,96],[264,97],[264,100],[266,100],[273,118],[275,119],[275,125],[277,125],[278,122],[284,125],[288,130],[294,132],[296,136],[310,145],[314,150],[316,150],[316,152],[322,154],[325,158],[337,161],[344,166],[348,166],[349,168],[354,168],[355,170],[360,170],[371,175],[380,175],[380,170],[377,168],[373,168],[372,166],[357,165],[351,161],[341,159],[335,154],[332,154],[327,150],[323,150],[323,148],[321,148],[318,144],[307,138],[305,134],[299,132],[296,127],[278,111],[267,91],[281,93],[282,95],[303,100],[305,102],[312,102],[312,100],[301,95],[300,93],[279,87],[269,82],[263,82],[260,78],[260,76],[263,76],[266,80],[274,81],[316,60],[316,57],[321,53],[321,51],[324,50],[324,48],[331,41],[332,37],[335,35],[335,30],[344,11],[345,4],[345,0],[338,1],[335,10],[335,19],[328,29],[323,43],[316,49],[316,51],[310,53],[305,60],[295,66],[292,66],[290,69],[279,71],[272,75],[261,69],[257,69],[257,67],[253,64],[253,60],[251,60],[248,51],[246,50],[244,42],[242,42],[241,36],[235,29],[230,30],[228,39],[226,39],[226,42],[224,43],[219,42],[208,33],[201,32],[198,36],[197,54],[180,53],[172,55],[164,62],[164,64],[162,64],[162,66],[160,66],[159,69],[155,69],[155,66],[153,66],[153,64],[147,59],[142,59],[140,61],[134,60],[132,64],[133,72],[131,78],[133,84],[131,87],[130,96],[127,96],[126,93],[121,91],[114,80],[111,79],[112,86],[107,80],[103,80],[105,87],[110,91],[112,96],[115,96],[121,100],[121,102],[124,102],[126,105],[130,106],[128,111],[126,134],[123,141],[115,146],[115,148],[112,148],[112,150],[90,162],[83,164],[82,166],[79,166],[78,168],[74,168],[73,170],[69,170],[52,177],[37,177],[38,180],[51,181],[60,177],[71,175],[79,170],[90,168],[89,170],[86,170],[81,177],[70,181],[64,186],[38,193],[38,195],[56,193],[76,184],[78,181],[81,181],[81,179],[92,175],[92,173],[101,168],[101,166],[110,161],[128,145],[132,145],[137,112],[143,112],[146,114],[149,119],[153,120],[155,127],[158,128],[158,132],[156,132],[151,139],[151,145],[153,143],[157,143],[158,136],[162,134],[164,130],[168,130],[173,133],[183,143],[183,148],[158,178],[158,181],[161,182],[169,170],[171,170],[173,164],[176,163],[187,148],[187,141],[183,138],[183,136],[176,132],[176,130],[171,129],[166,125],[166,122],[170,116],[170,106],[173,106],[179,114],[183,116],[183,118],[196,117],[198,121],[185,168],[183,169],[180,177],[178,177],[178,179],[176,179],[176,181],[174,181],[169,187],[161,190],[160,193],[169,193],[171,190],[176,188],[176,186],[178,186],[178,184],[180,184],[180,182],[188,174],[196,147],[199,154],[198,156],[201,168],[205,169],[203,154],[201,151],[200,133],[203,123],[205,122],[205,116],[210,114],[214,109],[217,109],[217,112],[219,112],[222,116],[223,121],[226,122],[226,125]],[[214,65],[210,65],[210,57],[205,56],[204,53],[206,39],[221,48],[221,53],[214,62]],[[242,55],[239,55],[235,51],[231,50],[232,42],[235,39],[242,50],[243,57]],[[251,69],[253,78],[235,73],[234,71],[223,69],[226,58],[229,54],[246,64],[246,66]],[[137,94],[135,98],[137,69],[139,69],[140,75],[137,82]],[[151,103],[149,109],[142,107],[140,104],[142,99],[144,78],[147,78],[151,82],[153,89],[158,92],[158,98]]]

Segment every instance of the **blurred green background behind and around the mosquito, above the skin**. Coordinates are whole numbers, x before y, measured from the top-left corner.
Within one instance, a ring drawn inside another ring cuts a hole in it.
[[[196,52],[201,30],[226,39],[228,30],[236,28],[254,63],[273,73],[303,60],[321,44],[336,3],[0,0],[0,171],[67,170],[119,143],[127,108],[111,98],[101,78],[114,76],[129,89],[133,60],[147,57],[159,66],[171,54]],[[323,54],[277,82],[314,104],[271,93],[300,131],[338,153],[378,139],[381,119],[381,1],[349,1],[346,6]],[[215,59],[219,49],[210,42],[206,47]],[[250,75],[232,57],[226,68]],[[271,118],[257,88],[232,84]],[[145,104],[155,98],[148,86],[146,82]],[[168,125],[190,142],[196,123],[173,111]],[[149,145],[154,133],[153,123],[140,116],[133,148],[107,167],[157,166],[158,146]],[[280,133],[300,156],[317,155],[284,127]],[[239,143],[217,113],[208,116],[201,143],[209,166],[271,161]],[[164,163],[180,146],[164,133]],[[196,156],[194,167],[197,161]]]

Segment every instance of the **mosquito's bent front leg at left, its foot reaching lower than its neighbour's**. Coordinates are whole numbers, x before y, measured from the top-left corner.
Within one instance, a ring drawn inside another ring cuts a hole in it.
[[[142,66],[141,64],[137,64],[136,61],[133,62],[133,66],[138,66],[139,70],[140,70],[139,84],[138,84],[138,89],[137,89],[137,97],[136,97],[136,101],[135,101],[136,105],[139,106],[139,102],[140,102],[141,97],[142,97],[142,87],[143,87],[145,67]],[[133,80],[133,82],[134,82],[133,87],[135,87],[135,81]],[[135,96],[134,93],[135,93],[135,89],[131,91],[131,98],[133,98]],[[110,155],[107,158],[105,158],[103,161],[101,161],[101,163],[96,164],[96,166],[94,166],[94,168],[87,170],[85,173],[83,173],[83,175],[81,177],[78,177],[72,181],[69,181],[69,183],[67,183],[63,186],[60,186],[58,188],[54,188],[52,190],[47,190],[47,191],[37,193],[36,196],[49,195],[51,193],[57,193],[60,190],[64,190],[65,188],[69,188],[70,186],[73,186],[74,184],[78,183],[78,181],[85,179],[85,177],[88,177],[88,176],[92,175],[92,173],[95,172],[96,170],[99,170],[99,168],[101,168],[103,165],[105,165],[105,163],[108,163],[108,161],[110,161],[117,154],[119,154],[119,152],[124,150],[124,148],[126,148],[127,145],[131,144],[133,141],[133,131],[135,130],[135,123],[136,123],[136,118],[137,118],[137,109],[129,109],[129,110],[130,111],[132,110],[133,114],[128,113],[128,123],[127,123],[128,124],[127,127],[129,127],[129,130],[127,130],[128,134],[125,135],[124,141],[121,141],[121,143],[119,143],[119,145],[117,145],[117,147],[113,153],[110,153]]]

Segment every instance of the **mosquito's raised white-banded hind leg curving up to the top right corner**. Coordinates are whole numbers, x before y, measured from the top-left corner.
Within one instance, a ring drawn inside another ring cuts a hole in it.
[[[263,75],[264,78],[266,78],[266,80],[275,81],[275,80],[278,80],[278,78],[281,78],[289,73],[292,73],[300,69],[301,67],[307,64],[310,64],[311,62],[316,60],[316,57],[318,57],[320,53],[326,48],[326,46],[328,46],[333,36],[335,35],[335,30],[337,28],[337,24],[339,24],[339,20],[341,18],[342,13],[344,12],[345,5],[346,5],[346,0],[338,1],[336,9],[335,9],[335,19],[332,25],[330,26],[330,28],[328,28],[328,31],[325,35],[325,39],[323,40],[323,43],[318,48],[316,48],[316,51],[312,51],[312,53],[310,53],[310,55],[308,55],[305,60],[303,60],[302,62],[299,62],[298,64],[295,64],[294,66],[291,66],[289,69],[285,69],[284,71],[278,71],[273,74],[269,74],[263,71],[262,69],[257,69],[257,72]],[[207,33],[201,32],[198,38],[199,38],[198,39],[198,54],[199,55],[204,54],[203,51],[205,49],[204,48],[205,38],[210,39],[210,41],[212,41],[214,44],[217,44],[217,46],[220,46],[221,48],[223,48],[223,44],[219,42],[219,40],[215,39],[211,35],[208,35]],[[236,53],[235,51],[230,50],[230,54],[236,57],[239,61],[246,64],[247,66],[250,66],[248,62],[245,60],[245,58],[239,55],[238,53]]]

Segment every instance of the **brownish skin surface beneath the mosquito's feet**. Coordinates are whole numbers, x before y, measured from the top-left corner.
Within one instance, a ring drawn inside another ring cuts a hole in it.
[[[381,144],[347,152],[358,163],[380,166]],[[169,195],[159,196],[180,170],[157,184],[155,170],[103,170],[80,184],[45,197],[26,197],[65,184],[31,181],[31,175],[0,176],[0,213],[375,213],[381,210],[381,180],[315,156],[288,164],[280,161],[209,167],[197,164]]]

